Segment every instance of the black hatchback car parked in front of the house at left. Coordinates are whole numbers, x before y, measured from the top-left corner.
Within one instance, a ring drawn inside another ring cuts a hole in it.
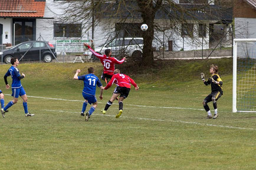
[[[6,64],[10,64],[12,57],[17,57],[18,59],[21,59],[22,56],[25,54],[21,61],[39,61],[40,51],[41,60],[44,62],[51,62],[54,56],[56,56],[55,48],[50,42],[26,41],[0,52],[0,58],[2,55],[3,61]]]

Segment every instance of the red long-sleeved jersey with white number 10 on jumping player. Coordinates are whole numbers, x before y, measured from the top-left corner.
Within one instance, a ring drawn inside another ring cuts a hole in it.
[[[103,73],[108,75],[114,75],[114,64],[122,64],[124,62],[124,59],[121,59],[120,61],[114,57],[108,57],[106,55],[101,55],[95,52],[93,49],[91,49],[90,46],[88,46],[89,50],[97,56],[97,58],[100,59],[101,64],[104,66]]]

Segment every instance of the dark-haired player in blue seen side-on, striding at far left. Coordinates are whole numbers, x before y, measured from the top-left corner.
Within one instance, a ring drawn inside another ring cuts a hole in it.
[[[6,72],[6,74],[4,76],[4,80],[5,80],[5,84],[6,84],[6,89],[9,89],[10,86],[8,84],[7,77],[8,76],[12,77],[12,96],[14,98],[12,99],[12,101],[10,101],[5,106],[4,109],[1,109],[2,115],[5,115],[5,112],[7,112],[7,109],[9,107],[11,107],[12,105],[16,104],[18,102],[19,96],[21,96],[21,98],[23,99],[23,107],[24,107],[25,116],[26,117],[34,116],[34,114],[30,114],[28,112],[28,105],[27,105],[28,97],[26,95],[26,92],[25,92],[23,86],[21,85],[21,79],[25,77],[25,74],[24,73],[22,73],[22,75],[19,74],[19,69],[17,68],[19,65],[18,58],[16,58],[16,57],[11,58],[11,64],[12,64],[12,66]]]

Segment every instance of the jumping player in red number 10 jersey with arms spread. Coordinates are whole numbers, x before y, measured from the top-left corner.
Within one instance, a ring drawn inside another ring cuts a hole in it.
[[[87,46],[87,48],[94,54],[97,56],[97,58],[100,59],[101,64],[104,66],[103,69],[103,76],[102,79],[106,82],[107,84],[107,79],[111,79],[111,77],[114,75],[114,64],[122,64],[125,60],[126,57],[124,57],[123,59],[121,59],[120,61],[114,57],[111,57],[111,50],[110,49],[106,49],[105,50],[105,55],[101,55],[98,54],[97,52],[95,52],[90,45],[88,45],[87,43],[84,43],[84,46]]]

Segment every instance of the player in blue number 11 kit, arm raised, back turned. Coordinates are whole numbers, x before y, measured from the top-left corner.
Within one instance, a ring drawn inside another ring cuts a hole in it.
[[[84,97],[84,103],[83,108],[81,111],[81,116],[84,116],[84,112],[86,111],[86,106],[89,103],[91,105],[90,110],[86,113],[86,121],[90,118],[91,114],[93,114],[94,110],[96,109],[96,106],[98,104],[95,93],[96,93],[96,85],[100,87],[100,99],[102,99],[103,94],[103,86],[100,82],[100,79],[94,75],[94,68],[90,67],[88,68],[88,74],[78,76],[80,73],[80,69],[77,69],[76,74],[74,75],[74,79],[82,80],[84,81],[84,89],[83,89],[83,97]]]

